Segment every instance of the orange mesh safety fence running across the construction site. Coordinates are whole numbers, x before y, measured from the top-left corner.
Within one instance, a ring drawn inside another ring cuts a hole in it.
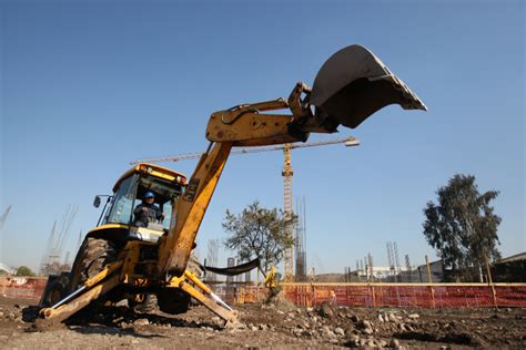
[[[0,278],[0,296],[40,299],[47,278]],[[265,287],[216,284],[214,292],[227,303],[265,300]],[[285,298],[297,306],[324,301],[351,307],[526,308],[526,284],[284,284]]]

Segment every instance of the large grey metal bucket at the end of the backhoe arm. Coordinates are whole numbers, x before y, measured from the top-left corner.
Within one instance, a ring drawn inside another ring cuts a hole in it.
[[[393,103],[404,110],[427,111],[402,80],[361,45],[351,45],[333,54],[317,73],[310,96],[317,124],[330,132],[340,124],[354,128]]]

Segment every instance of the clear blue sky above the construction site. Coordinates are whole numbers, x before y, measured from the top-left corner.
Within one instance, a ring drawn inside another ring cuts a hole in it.
[[[455,173],[497,189],[504,256],[525,250],[524,1],[8,1],[1,14],[0,260],[37,268],[54,219],[79,205],[69,249],[97,222],[128,162],[204,151],[210,114],[286,97],[360,43],[429,107],[390,106],[355,148],[293,153],[307,203],[307,264],[343,272],[397,241],[434,257],[426,202]],[[314,138],[315,140],[315,138]],[[199,234],[224,239],[225,209],[281,207],[282,155],[233,156]],[[194,162],[172,167],[190,175]],[[223,259],[226,255],[222,255]],[[224,264],[225,261],[220,261]]]

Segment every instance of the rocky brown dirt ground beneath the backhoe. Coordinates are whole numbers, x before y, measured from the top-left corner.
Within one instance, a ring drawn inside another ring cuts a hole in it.
[[[526,309],[396,309],[251,303],[222,329],[204,307],[169,316],[105,308],[33,331],[38,308],[0,299],[0,348],[526,348]]]

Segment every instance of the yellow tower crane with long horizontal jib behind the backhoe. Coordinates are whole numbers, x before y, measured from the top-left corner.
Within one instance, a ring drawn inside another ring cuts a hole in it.
[[[337,138],[328,138],[323,141],[315,141],[315,142],[305,142],[305,143],[287,143],[283,145],[271,145],[271,146],[260,146],[260,147],[249,147],[249,148],[236,148],[232,150],[231,154],[246,154],[246,153],[261,153],[261,152],[270,152],[270,151],[283,151],[284,163],[283,163],[283,212],[285,218],[291,218],[293,214],[293,202],[292,202],[292,177],[294,172],[292,169],[292,157],[291,151],[294,148],[304,148],[304,147],[316,147],[316,146],[326,146],[326,145],[334,145],[334,144],[345,144],[345,146],[357,146],[360,145],[360,141],[354,137],[337,137]],[[179,162],[185,159],[198,159],[201,157],[201,153],[193,152],[193,153],[183,153],[178,155],[168,155],[163,157],[150,157],[150,158],[142,158],[130,162],[131,165],[135,165],[139,163],[165,163],[165,162]],[[293,234],[293,227],[290,225],[285,228],[286,234],[289,237]],[[294,257],[293,257],[293,247],[285,249],[285,282],[293,282],[294,281]]]

